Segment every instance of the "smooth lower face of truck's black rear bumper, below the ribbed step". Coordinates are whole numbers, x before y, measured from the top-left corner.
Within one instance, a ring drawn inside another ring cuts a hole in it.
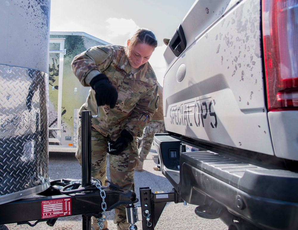
[[[187,171],[187,175],[184,171]],[[193,191],[211,197],[226,207],[229,212],[262,229],[297,230],[298,203],[251,195],[188,163],[183,163],[181,175],[183,179],[180,180],[181,190],[179,194],[188,203],[193,200],[203,202],[202,196],[195,199],[192,197],[195,196],[193,193],[188,192],[187,195],[189,188],[192,188]],[[238,205],[238,199],[241,199],[244,206]]]

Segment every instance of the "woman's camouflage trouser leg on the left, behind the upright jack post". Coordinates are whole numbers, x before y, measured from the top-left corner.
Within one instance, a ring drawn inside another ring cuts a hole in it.
[[[81,164],[82,155],[82,140],[81,140],[81,126],[78,128],[78,146],[76,151],[76,158]],[[103,186],[107,185],[106,167],[107,167],[107,143],[108,138],[91,129],[91,176],[99,179]]]

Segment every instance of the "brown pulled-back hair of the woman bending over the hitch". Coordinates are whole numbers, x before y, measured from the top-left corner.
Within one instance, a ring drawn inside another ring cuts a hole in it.
[[[127,54],[127,51],[130,51],[131,48],[133,48],[136,44],[139,42],[145,43],[147,45],[150,45],[154,48],[157,47],[157,40],[153,32],[149,29],[138,29],[134,35],[129,40],[129,45],[125,46],[125,53]]]

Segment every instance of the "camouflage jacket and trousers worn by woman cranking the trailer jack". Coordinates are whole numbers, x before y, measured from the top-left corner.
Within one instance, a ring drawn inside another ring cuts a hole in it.
[[[124,190],[134,190],[134,168],[138,166],[137,137],[157,111],[159,96],[155,73],[148,62],[132,74],[131,66],[122,46],[95,46],[75,56],[72,70],[83,86],[90,86],[91,79],[97,74],[107,75],[117,89],[118,100],[115,108],[100,106],[100,116],[92,119],[91,158],[92,177],[106,185],[107,143],[116,141],[123,129],[133,136],[128,147],[121,155],[109,155],[111,182]],[[97,114],[95,91],[91,88],[86,103],[80,108]],[[81,137],[79,127],[76,157],[81,163]],[[125,205],[115,208],[114,223],[127,223]]]

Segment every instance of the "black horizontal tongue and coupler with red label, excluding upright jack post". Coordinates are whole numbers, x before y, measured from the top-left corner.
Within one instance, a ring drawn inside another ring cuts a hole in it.
[[[94,178],[91,181],[90,186],[80,188],[79,180],[55,180],[47,190],[38,194],[41,195],[39,197],[1,204],[0,225],[17,223],[35,226],[46,221],[49,226],[54,226],[59,217],[83,214],[86,217],[105,218],[105,211],[138,202],[132,190],[124,191],[117,185],[101,186]]]

